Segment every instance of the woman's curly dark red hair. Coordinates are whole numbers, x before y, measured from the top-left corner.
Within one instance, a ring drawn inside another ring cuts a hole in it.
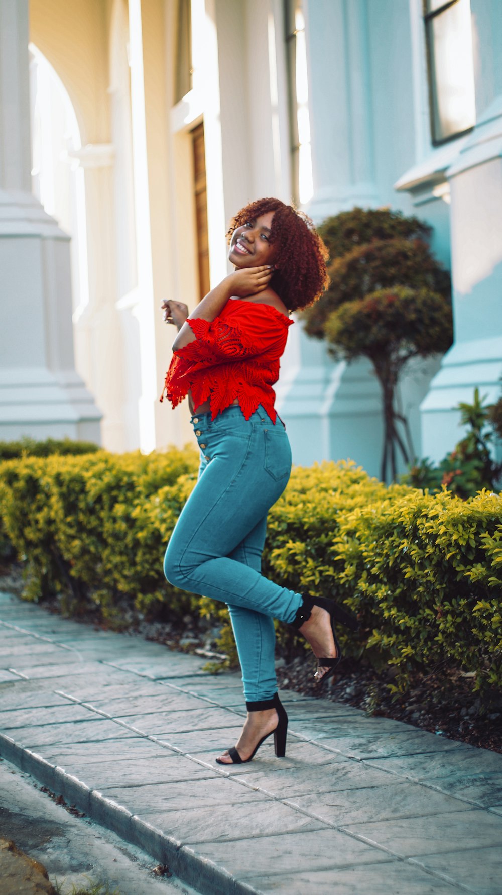
[[[230,243],[238,226],[273,211],[270,243],[277,243],[277,270],[270,287],[285,303],[288,311],[301,311],[316,302],[328,287],[326,270],[328,249],[315,229],[311,217],[280,199],[250,202],[232,218],[226,234]]]

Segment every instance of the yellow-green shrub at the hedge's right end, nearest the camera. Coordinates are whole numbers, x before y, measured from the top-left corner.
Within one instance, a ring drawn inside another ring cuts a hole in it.
[[[334,542],[340,593],[368,630],[373,665],[396,688],[433,663],[502,685],[502,500],[483,490],[387,497],[344,513]]]

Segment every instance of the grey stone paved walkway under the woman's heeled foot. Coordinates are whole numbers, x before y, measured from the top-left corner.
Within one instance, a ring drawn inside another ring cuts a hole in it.
[[[228,770],[237,674],[0,594],[0,755],[202,893],[502,895],[502,755],[283,692]]]

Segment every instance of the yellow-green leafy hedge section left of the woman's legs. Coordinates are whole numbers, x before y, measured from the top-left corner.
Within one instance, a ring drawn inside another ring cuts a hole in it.
[[[193,487],[192,448],[166,454],[26,458],[0,467],[5,528],[26,560],[28,599],[62,592],[73,611],[97,603],[116,622],[123,604],[147,610],[189,595],[166,584],[163,549]]]

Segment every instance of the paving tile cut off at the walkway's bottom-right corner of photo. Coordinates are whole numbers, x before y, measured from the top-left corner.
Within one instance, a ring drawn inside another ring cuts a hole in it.
[[[500,895],[502,859],[500,844],[491,848],[469,848],[441,855],[412,858],[411,864],[458,882],[476,895]]]

